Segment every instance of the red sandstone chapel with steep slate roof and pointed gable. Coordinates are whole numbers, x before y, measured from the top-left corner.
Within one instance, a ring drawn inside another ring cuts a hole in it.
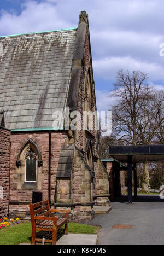
[[[110,204],[96,117],[92,130],[54,126],[57,111],[83,119],[97,110],[88,15],[81,12],[78,28],[3,36],[0,44],[0,217],[26,218],[30,202],[49,199],[72,219],[93,218],[94,205]]]

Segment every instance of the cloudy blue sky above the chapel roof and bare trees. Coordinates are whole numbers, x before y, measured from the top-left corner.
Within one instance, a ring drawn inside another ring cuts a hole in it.
[[[0,36],[77,27],[86,10],[97,108],[107,110],[119,69],[143,71],[148,84],[164,88],[163,9],[163,0],[3,0]]]

